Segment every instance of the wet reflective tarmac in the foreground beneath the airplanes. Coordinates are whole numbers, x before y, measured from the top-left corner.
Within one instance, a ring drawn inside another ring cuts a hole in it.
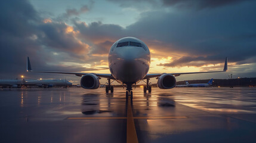
[[[2,89],[0,142],[256,142],[256,88],[104,91]]]

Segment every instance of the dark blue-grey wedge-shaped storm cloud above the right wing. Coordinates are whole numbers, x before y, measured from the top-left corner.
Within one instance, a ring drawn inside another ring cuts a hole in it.
[[[147,41],[161,41],[165,43],[162,50],[183,52],[192,61],[198,61],[192,57],[203,56],[208,57],[205,60],[229,57],[230,61],[238,62],[256,56],[255,13],[255,1],[218,10],[153,12],[144,14],[127,30],[139,37],[146,36]]]

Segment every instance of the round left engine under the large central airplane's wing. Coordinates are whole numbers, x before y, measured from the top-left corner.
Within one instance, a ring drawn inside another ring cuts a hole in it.
[[[97,89],[100,87],[100,79],[95,74],[85,74],[82,76],[80,84],[85,89]]]

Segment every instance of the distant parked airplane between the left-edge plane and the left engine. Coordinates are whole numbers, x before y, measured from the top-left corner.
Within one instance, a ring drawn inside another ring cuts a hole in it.
[[[53,88],[53,86],[71,86],[72,83],[66,79],[42,79],[42,80],[27,80],[26,86],[39,86],[42,88]]]

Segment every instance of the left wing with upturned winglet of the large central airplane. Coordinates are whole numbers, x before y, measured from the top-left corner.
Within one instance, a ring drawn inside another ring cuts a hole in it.
[[[27,57],[27,71],[29,72],[36,72],[36,73],[61,73],[61,74],[75,74],[76,76],[83,76],[85,74],[89,74],[89,73],[72,73],[72,72],[63,72],[63,71],[35,71],[32,70],[31,64],[30,64],[30,60],[29,57]],[[101,74],[101,73],[92,73],[95,74],[98,77],[104,77],[107,79],[115,79],[112,74]]]

